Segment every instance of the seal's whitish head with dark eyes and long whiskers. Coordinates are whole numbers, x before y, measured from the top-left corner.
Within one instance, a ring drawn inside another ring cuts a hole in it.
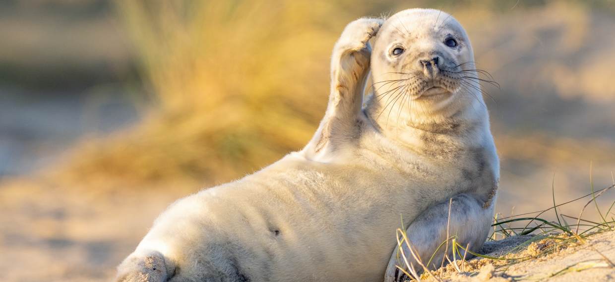
[[[450,109],[460,92],[478,87],[466,31],[438,10],[410,9],[393,15],[378,31],[371,55],[375,94],[407,95],[423,111]],[[446,111],[450,112],[450,111]]]

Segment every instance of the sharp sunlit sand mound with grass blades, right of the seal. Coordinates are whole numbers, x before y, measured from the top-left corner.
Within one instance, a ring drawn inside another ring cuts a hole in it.
[[[483,246],[483,254],[501,257],[529,240],[531,236],[510,237],[505,240],[491,241]],[[605,232],[592,235],[583,244],[570,245],[553,254],[544,255],[541,248],[553,241],[537,241],[527,248],[520,248],[507,257],[534,257],[508,267],[496,268],[494,265],[506,262],[477,258],[469,264],[478,270],[475,275],[469,268],[466,273],[457,273],[452,267],[447,267],[451,281],[612,281],[615,278],[615,232]],[[430,281],[435,281],[433,278]]]

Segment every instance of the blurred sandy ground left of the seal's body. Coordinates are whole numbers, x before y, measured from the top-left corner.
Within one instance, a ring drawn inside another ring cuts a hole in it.
[[[170,186],[172,187],[172,186]],[[111,281],[173,189],[84,193],[38,181],[0,187],[0,281]]]

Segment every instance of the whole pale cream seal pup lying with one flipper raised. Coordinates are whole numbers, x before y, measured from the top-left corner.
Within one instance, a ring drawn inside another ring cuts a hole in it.
[[[170,205],[116,281],[394,280],[402,224],[423,257],[447,233],[480,249],[499,162],[473,60],[437,10],[349,23],[306,147]]]

